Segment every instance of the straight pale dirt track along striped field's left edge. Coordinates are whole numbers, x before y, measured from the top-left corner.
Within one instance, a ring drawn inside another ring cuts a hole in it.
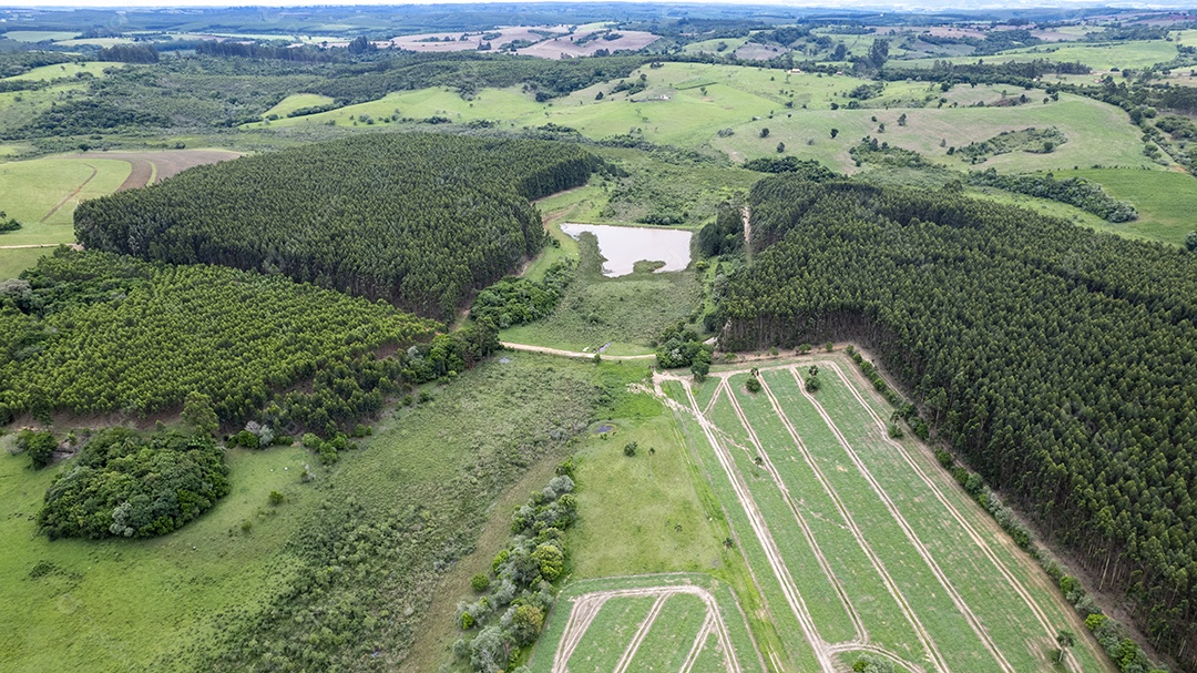
[[[810,648],[814,650],[815,660],[819,662],[819,669],[822,673],[834,673],[836,666],[832,662],[827,643],[825,643],[819,636],[819,630],[815,627],[814,619],[810,617],[810,611],[807,608],[806,601],[802,600],[802,594],[798,593],[798,587],[794,582],[794,577],[790,575],[789,569],[785,568],[785,562],[782,559],[782,552],[778,548],[777,542],[773,540],[773,535],[770,533],[768,526],[765,523],[765,517],[761,515],[760,509],[757,508],[757,503],[748,492],[748,485],[745,484],[742,475],[739,471],[736,471],[727,447],[719,442],[718,437],[716,437],[715,424],[703,416],[703,412],[698,408],[698,400],[694,399],[694,392],[689,387],[689,381],[673,375],[654,375],[655,383],[661,380],[678,381],[682,389],[686,390],[686,399],[689,402],[689,408],[685,410],[685,412],[693,416],[698,422],[698,425],[703,429],[703,433],[706,435],[706,441],[710,442],[711,449],[715,451],[715,456],[719,461],[719,466],[723,468],[728,480],[731,483],[731,489],[736,493],[736,499],[740,502],[740,507],[743,508],[745,514],[748,516],[748,523],[752,527],[753,533],[757,535],[757,540],[760,542],[761,548],[765,551],[765,557],[768,559],[770,568],[773,569],[773,575],[782,586],[782,593],[785,595],[785,602],[790,605],[790,610],[794,612],[794,617],[798,620],[798,626],[802,629],[802,635],[806,636],[807,642],[810,643]],[[660,388],[657,389],[660,390]],[[683,408],[663,393],[662,399],[668,406],[670,406],[670,408]]]

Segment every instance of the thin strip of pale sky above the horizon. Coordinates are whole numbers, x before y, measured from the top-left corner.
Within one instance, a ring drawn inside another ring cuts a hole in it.
[[[41,0],[37,5],[0,4],[2,10],[174,10],[174,8],[231,8],[231,7],[266,7],[266,8],[302,8],[302,7],[402,7],[408,5],[555,5],[555,4],[627,4],[627,5],[728,5],[728,6],[777,6],[777,7],[802,7],[802,8],[826,8],[826,10],[863,10],[876,12],[900,12],[900,13],[935,13],[944,11],[985,11],[985,10],[1051,10],[1062,6],[1068,7],[1094,7],[1111,10],[1140,10],[1140,11],[1177,11],[1197,10],[1197,2],[1099,2],[1094,0],[1057,0],[1044,2],[1039,0],[1025,0],[1014,2],[1002,0],[982,0],[958,2],[953,0],[918,0],[909,4],[887,4],[876,0],[840,0],[828,2],[827,0],[683,0],[649,2],[644,0],[488,0],[478,2],[474,0],[407,0],[396,2],[393,0]]]

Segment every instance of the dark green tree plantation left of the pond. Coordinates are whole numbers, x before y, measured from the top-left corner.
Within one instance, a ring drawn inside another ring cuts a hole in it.
[[[545,244],[530,199],[598,165],[575,145],[371,134],[89,201],[75,234],[89,249],[281,272],[444,319]]]

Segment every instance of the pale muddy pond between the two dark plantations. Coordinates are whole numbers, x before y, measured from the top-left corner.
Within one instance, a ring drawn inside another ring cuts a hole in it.
[[[656,271],[681,271],[689,265],[689,231],[569,222],[561,225],[561,231],[575,238],[594,234],[598,240],[598,254],[607,259],[602,274],[608,278],[632,273],[638,261],[664,262]]]

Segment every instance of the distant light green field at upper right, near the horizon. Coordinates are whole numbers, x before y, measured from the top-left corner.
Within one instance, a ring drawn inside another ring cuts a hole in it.
[[[1144,68],[1155,63],[1162,63],[1177,57],[1175,43],[1162,40],[1152,41],[1128,41],[1128,42],[1098,42],[1098,43],[1062,43],[1051,46],[1027,47],[1022,49],[1010,49],[991,56],[956,56],[947,59],[956,63],[976,63],[978,60],[986,63],[1009,63],[1016,61],[1031,61],[1046,59],[1057,62],[1080,62],[1095,71],[1108,71],[1111,68]],[[935,59],[918,59],[903,61],[903,66],[930,67]]]

